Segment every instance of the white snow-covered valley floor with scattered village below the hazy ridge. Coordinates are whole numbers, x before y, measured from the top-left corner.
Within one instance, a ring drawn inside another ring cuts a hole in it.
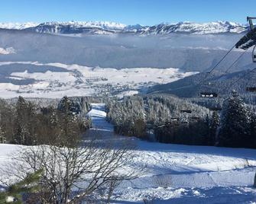
[[[39,62],[0,62],[0,69],[15,69],[30,66],[30,72],[11,72],[0,83],[0,95],[5,98],[17,97],[63,97],[84,95],[124,95],[137,94],[139,90],[154,84],[177,81],[196,72],[182,72],[180,69],[114,69],[87,67],[83,65],[66,65],[61,63]],[[5,67],[2,67],[5,66]],[[8,66],[8,67],[6,67]],[[33,72],[31,72],[33,66]],[[46,72],[41,67],[49,67]],[[50,70],[51,69],[51,70]],[[61,72],[53,69],[61,69]],[[53,71],[52,71],[53,70]],[[10,82],[6,80],[11,80]],[[29,84],[22,81],[31,80]]]

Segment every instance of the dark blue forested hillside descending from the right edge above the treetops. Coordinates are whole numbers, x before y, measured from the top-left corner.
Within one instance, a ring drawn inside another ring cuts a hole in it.
[[[199,92],[216,92],[219,95],[230,94],[232,90],[245,94],[246,87],[256,87],[256,69],[223,74],[215,72],[205,79],[205,73],[191,75],[168,84],[152,87],[148,93],[175,94],[178,97],[198,97]],[[256,93],[255,93],[256,95]]]

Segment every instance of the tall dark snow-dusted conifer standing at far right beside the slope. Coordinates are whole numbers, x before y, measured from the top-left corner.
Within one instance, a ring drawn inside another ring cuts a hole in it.
[[[247,147],[249,142],[249,111],[241,97],[233,93],[224,101],[218,132],[218,145]]]

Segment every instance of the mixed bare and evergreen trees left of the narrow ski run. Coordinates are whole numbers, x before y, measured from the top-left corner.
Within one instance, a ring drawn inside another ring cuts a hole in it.
[[[89,108],[89,104],[86,107]],[[63,97],[57,107],[40,107],[24,97],[18,97],[15,104],[1,100],[0,136],[18,145],[65,141],[63,137],[67,130],[64,127],[73,129],[73,135],[79,135],[89,128],[90,119],[81,113],[79,105],[68,97]]]

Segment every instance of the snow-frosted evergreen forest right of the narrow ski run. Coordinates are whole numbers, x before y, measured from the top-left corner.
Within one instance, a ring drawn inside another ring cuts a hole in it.
[[[211,110],[199,101],[154,94],[109,101],[106,110],[118,134],[148,139],[152,130],[158,142],[256,148],[254,109],[237,93],[221,104],[207,103]]]

